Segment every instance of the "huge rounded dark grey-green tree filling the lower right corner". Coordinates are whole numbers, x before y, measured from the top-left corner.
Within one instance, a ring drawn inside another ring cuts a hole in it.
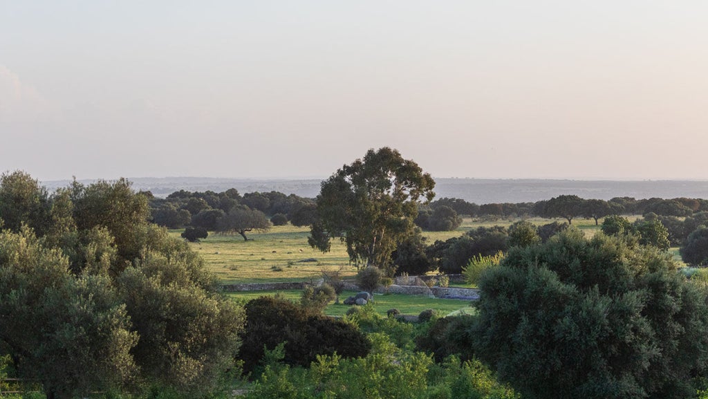
[[[684,398],[706,370],[706,292],[666,252],[568,230],[480,282],[476,353],[525,398]]]

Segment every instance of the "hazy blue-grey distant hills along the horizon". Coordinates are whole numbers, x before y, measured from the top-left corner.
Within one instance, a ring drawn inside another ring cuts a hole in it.
[[[136,190],[165,197],[179,190],[215,191],[236,189],[239,193],[280,191],[314,198],[322,179],[225,179],[215,177],[128,178]],[[91,183],[93,180],[81,181]],[[69,180],[44,181],[54,191],[68,186]],[[614,197],[706,198],[708,181],[689,180],[553,180],[553,179],[435,179],[435,198],[462,198],[472,203],[522,203],[547,200],[561,194],[609,200]]]

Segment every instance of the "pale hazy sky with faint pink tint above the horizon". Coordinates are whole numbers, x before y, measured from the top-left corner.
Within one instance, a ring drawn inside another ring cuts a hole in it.
[[[708,1],[0,0],[0,172],[708,179]]]

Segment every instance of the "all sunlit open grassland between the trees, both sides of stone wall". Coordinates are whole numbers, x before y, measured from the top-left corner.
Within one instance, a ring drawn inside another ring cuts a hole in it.
[[[637,217],[630,217],[636,220]],[[552,223],[552,219],[531,218],[530,222],[536,225]],[[508,227],[518,221],[515,220],[477,220],[464,219],[464,223],[454,231],[423,232],[429,244],[435,240],[447,240],[459,237],[465,232],[477,227],[490,227],[502,225]],[[558,220],[563,222],[564,220]],[[600,230],[592,219],[576,219],[573,225],[591,237]],[[171,230],[172,235],[180,235],[182,230]],[[321,278],[322,271],[341,270],[347,279],[353,279],[357,273],[355,265],[350,264],[346,247],[339,240],[332,242],[331,252],[322,253],[312,249],[307,244],[309,235],[308,227],[295,227],[290,224],[273,226],[267,232],[251,232],[249,240],[244,241],[240,235],[217,235],[210,233],[209,237],[201,242],[190,243],[190,247],[198,252],[205,260],[205,266],[215,274],[222,283],[268,283],[277,281],[317,281]],[[675,259],[680,262],[678,248],[671,248]],[[308,262],[304,262],[308,261]],[[457,284],[456,286],[464,286]],[[287,299],[299,300],[302,291],[278,291],[278,295]],[[239,292],[229,293],[237,300],[249,300],[263,295],[275,295],[275,291]],[[352,293],[343,293],[342,300]],[[469,308],[469,303],[462,300],[445,300],[427,298],[425,296],[404,295],[377,295],[375,310],[381,315],[386,315],[387,310],[396,308],[401,313],[417,315],[421,310],[432,308],[440,315],[462,310],[474,312]],[[341,316],[350,308],[348,305],[335,305],[331,303],[326,309],[327,315]]]

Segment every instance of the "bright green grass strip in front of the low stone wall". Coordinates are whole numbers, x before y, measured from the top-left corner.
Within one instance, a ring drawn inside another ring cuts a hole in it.
[[[277,291],[277,293],[285,299],[297,301],[299,300],[302,291],[287,290]],[[260,296],[275,296],[275,294],[276,291],[260,291],[229,293],[228,296],[236,300],[246,301],[258,298]],[[344,292],[342,293],[340,300],[344,300],[348,296],[353,296],[354,294],[354,292]],[[469,302],[466,300],[437,299],[428,298],[426,296],[399,295],[393,293],[375,296],[373,305],[376,313],[384,316],[386,315],[387,310],[392,308],[400,310],[404,315],[418,315],[426,309],[434,309],[442,316],[456,311],[463,311],[468,314],[473,314],[476,312],[474,308],[469,307]],[[331,303],[327,306],[327,308],[325,308],[324,313],[330,316],[343,316],[349,308],[351,308],[350,305],[335,305],[334,303]]]

